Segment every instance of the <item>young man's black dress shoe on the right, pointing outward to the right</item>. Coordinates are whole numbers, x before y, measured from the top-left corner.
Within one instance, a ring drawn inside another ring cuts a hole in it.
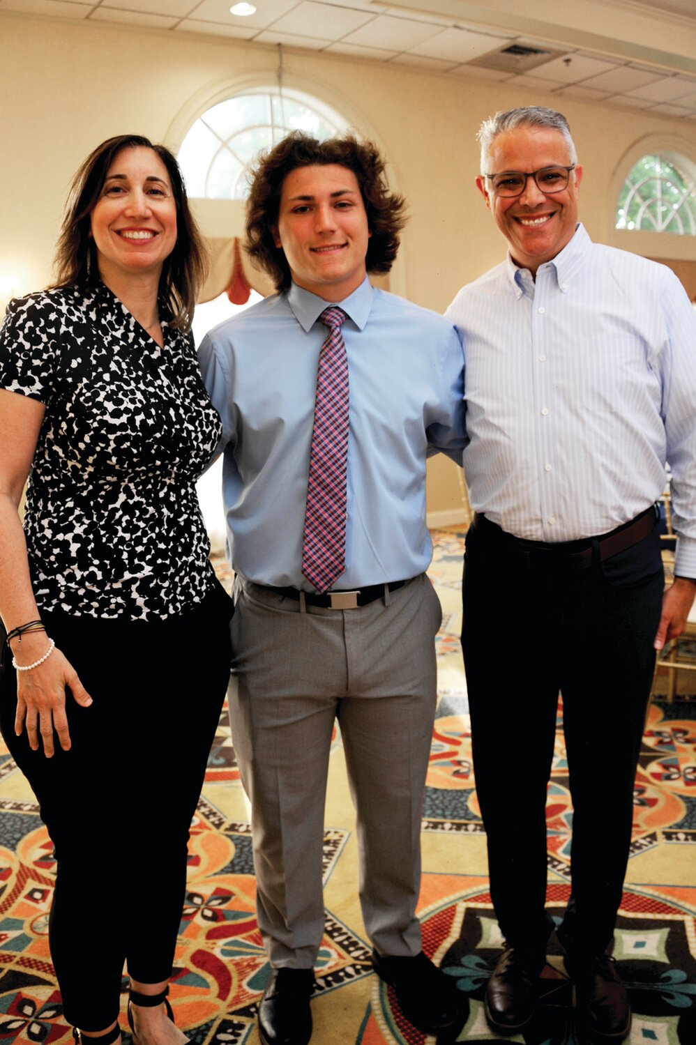
[[[385,957],[373,951],[372,966],[379,979],[394,988],[399,1008],[417,1030],[437,1035],[458,1025],[457,988],[422,951],[415,957]]]

